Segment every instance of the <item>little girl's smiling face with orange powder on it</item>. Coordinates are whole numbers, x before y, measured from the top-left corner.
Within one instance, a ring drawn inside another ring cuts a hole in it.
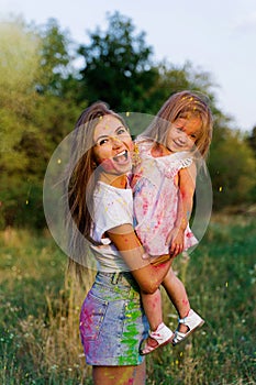
[[[191,151],[200,135],[201,127],[202,121],[198,117],[178,118],[171,123],[167,133],[167,148],[174,153]]]

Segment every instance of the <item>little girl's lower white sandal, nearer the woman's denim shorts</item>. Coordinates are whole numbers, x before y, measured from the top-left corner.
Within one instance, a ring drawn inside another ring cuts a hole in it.
[[[148,354],[154,350],[158,349],[159,346],[166,345],[172,340],[174,333],[169,328],[167,328],[167,326],[164,322],[162,322],[155,331],[149,331],[149,337],[153,340],[156,340],[157,345],[151,346],[147,342],[147,339],[142,341],[140,348],[141,355]]]

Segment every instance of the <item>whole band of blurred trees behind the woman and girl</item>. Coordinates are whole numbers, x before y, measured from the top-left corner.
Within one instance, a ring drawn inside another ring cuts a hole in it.
[[[108,22],[80,46],[54,19],[41,28],[21,19],[0,24],[0,227],[45,226],[47,163],[89,103],[101,99],[118,112],[155,114],[182,89],[207,95],[213,111],[208,165],[214,209],[254,201],[255,128],[247,138],[232,130],[216,107],[211,74],[191,63],[154,63],[145,33],[136,33],[130,18],[114,12]]]

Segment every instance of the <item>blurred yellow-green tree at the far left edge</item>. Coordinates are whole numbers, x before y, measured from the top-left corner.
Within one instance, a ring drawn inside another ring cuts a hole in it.
[[[38,36],[20,19],[0,25],[0,184],[1,224],[12,224],[26,207],[30,161],[20,143],[25,132],[36,135],[30,118],[36,101],[34,84],[40,68]],[[13,48],[14,47],[14,48]],[[21,195],[22,191],[22,195]]]

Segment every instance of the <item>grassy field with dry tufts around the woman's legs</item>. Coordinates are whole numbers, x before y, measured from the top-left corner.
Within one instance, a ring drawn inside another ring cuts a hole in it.
[[[0,248],[0,383],[91,384],[78,334],[86,289],[66,278],[66,256],[49,234],[25,230],[2,232]],[[255,256],[255,217],[213,216],[190,258],[177,258],[205,323],[186,343],[147,356],[148,385],[256,384]],[[92,278],[88,272],[88,287]]]

